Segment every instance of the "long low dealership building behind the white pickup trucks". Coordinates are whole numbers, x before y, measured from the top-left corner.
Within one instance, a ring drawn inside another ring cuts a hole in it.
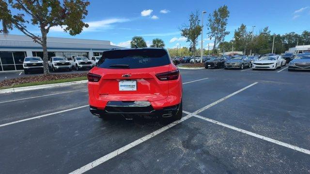
[[[111,45],[110,41],[70,39],[47,37],[48,58],[58,56],[100,56],[103,51],[115,48],[123,48]],[[0,72],[23,70],[25,57],[43,58],[42,46],[24,35],[3,35],[0,34]]]

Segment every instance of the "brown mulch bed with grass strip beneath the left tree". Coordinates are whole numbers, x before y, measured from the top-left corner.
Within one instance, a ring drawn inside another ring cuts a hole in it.
[[[48,74],[48,75],[35,75],[28,77],[19,77],[14,79],[7,79],[0,82],[0,87],[10,87],[13,85],[32,83],[32,82],[43,82],[58,79],[68,79],[75,77],[84,77],[87,73],[70,73],[70,74]]]

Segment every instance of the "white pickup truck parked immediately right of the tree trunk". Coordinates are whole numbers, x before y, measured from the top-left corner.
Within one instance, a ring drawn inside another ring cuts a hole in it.
[[[69,60],[64,57],[51,57],[48,61],[48,68],[53,70],[53,72],[57,70],[68,70],[72,71],[72,66]]]

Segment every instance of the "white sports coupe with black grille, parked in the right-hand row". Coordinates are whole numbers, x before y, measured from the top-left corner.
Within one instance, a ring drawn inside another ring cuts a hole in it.
[[[281,68],[285,66],[285,61],[281,56],[266,56],[259,58],[253,62],[252,69],[271,69],[276,70],[277,68]]]

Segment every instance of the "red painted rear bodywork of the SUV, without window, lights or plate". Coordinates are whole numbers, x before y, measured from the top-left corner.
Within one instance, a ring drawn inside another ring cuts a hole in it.
[[[155,110],[179,104],[182,100],[181,74],[176,80],[160,81],[155,74],[177,70],[171,64],[141,69],[104,69],[94,67],[90,73],[101,75],[99,82],[88,82],[89,104],[105,108],[109,101],[149,101]],[[128,78],[122,77],[130,74]],[[136,91],[120,91],[120,80],[136,80]]]

